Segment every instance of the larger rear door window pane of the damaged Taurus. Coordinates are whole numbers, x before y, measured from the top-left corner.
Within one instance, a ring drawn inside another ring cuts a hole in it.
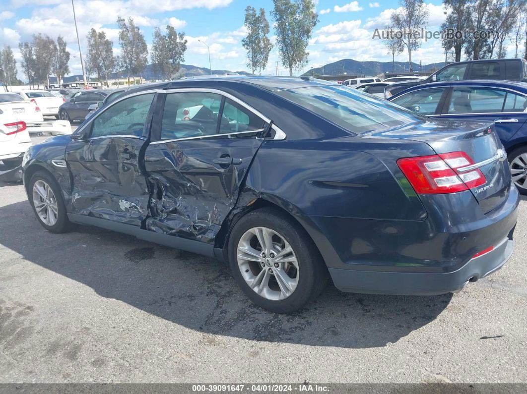
[[[163,108],[161,139],[216,134],[221,95],[192,92],[167,94]]]

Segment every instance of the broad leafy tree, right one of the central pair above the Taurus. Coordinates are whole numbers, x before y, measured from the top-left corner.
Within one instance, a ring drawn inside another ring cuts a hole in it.
[[[318,23],[318,15],[312,0],[273,0],[273,3],[271,16],[276,22],[278,52],[292,76],[295,68],[307,64],[306,47]]]

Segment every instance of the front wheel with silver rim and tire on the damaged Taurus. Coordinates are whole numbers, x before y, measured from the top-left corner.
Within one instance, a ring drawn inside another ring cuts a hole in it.
[[[31,177],[29,188],[30,204],[42,227],[52,233],[70,230],[71,223],[55,179],[44,171],[37,171]]]

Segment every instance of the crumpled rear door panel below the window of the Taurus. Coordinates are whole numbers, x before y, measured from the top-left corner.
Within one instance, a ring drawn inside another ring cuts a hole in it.
[[[144,163],[152,193],[145,228],[214,243],[261,142],[225,138],[149,145]],[[218,158],[240,164],[214,163]]]

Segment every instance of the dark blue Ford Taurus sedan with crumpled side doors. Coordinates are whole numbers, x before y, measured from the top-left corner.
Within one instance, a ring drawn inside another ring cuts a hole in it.
[[[123,94],[32,146],[24,184],[49,231],[94,225],[216,257],[257,305],[291,312],[329,277],[434,295],[499,269],[519,201],[505,158],[488,122],[321,80],[225,77]]]

